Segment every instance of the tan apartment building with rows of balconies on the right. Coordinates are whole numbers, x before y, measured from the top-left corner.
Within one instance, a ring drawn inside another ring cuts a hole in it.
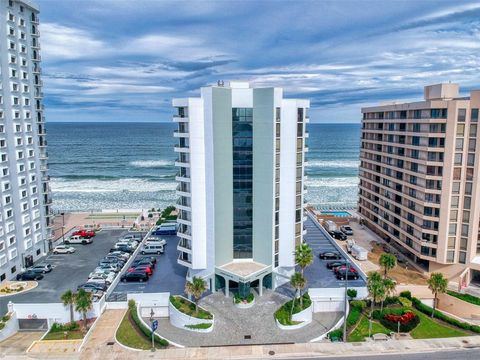
[[[359,212],[429,272],[480,281],[480,90],[363,108]],[[397,246],[398,247],[398,246]]]

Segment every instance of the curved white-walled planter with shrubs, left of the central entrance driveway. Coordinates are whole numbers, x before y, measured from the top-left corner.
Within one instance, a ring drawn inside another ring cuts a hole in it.
[[[170,323],[177,328],[196,332],[213,330],[213,314],[200,306],[196,306],[195,303],[183,296],[170,296],[168,308]]]

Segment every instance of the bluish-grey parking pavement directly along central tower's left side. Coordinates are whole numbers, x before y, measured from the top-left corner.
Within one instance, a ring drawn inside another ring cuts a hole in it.
[[[165,253],[163,255],[154,255],[157,264],[153,275],[147,282],[119,282],[116,288],[108,297],[108,301],[125,301],[127,293],[157,293],[170,292],[172,295],[183,294],[185,289],[185,276],[187,268],[177,264],[177,243],[176,236],[162,236],[167,241]],[[139,245],[140,247],[142,245]],[[153,256],[153,255],[141,255]]]

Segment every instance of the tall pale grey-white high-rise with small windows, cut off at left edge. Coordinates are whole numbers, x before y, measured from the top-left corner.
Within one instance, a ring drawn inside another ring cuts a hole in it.
[[[38,8],[0,0],[0,281],[48,251]]]

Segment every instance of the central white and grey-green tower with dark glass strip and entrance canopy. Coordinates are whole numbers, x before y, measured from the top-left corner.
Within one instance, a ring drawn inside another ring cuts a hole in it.
[[[302,242],[309,101],[219,82],[175,99],[178,263],[212,290],[289,280]]]

